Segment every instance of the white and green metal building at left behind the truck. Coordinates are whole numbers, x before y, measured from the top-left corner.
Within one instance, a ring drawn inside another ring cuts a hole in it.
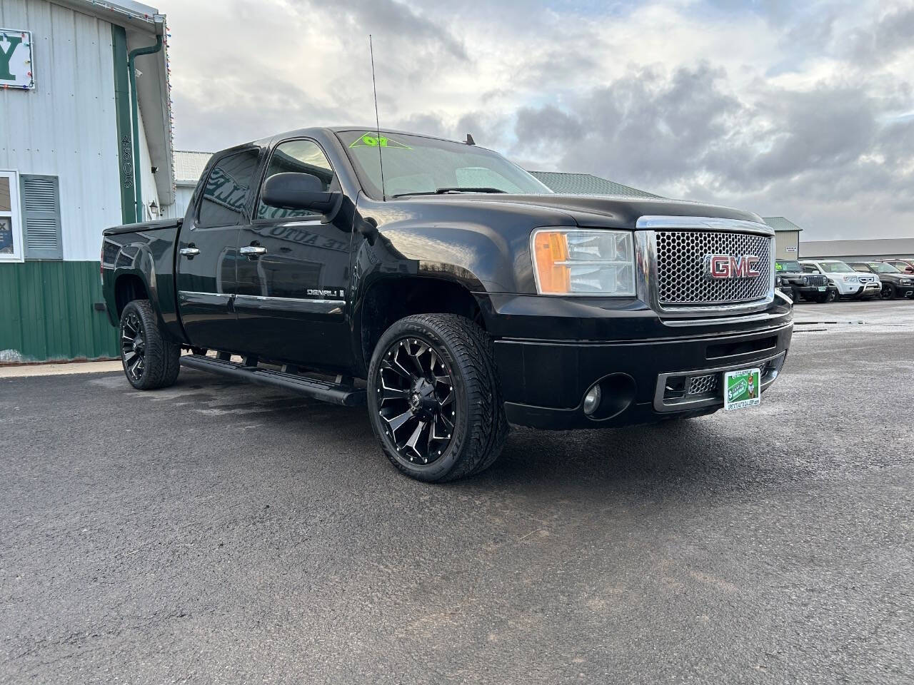
[[[101,229],[175,202],[165,16],[0,0],[0,363],[115,356]]]

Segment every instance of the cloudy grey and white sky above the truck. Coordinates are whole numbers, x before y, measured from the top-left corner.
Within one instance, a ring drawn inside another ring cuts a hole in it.
[[[914,0],[160,0],[176,146],[312,125],[914,237]]]

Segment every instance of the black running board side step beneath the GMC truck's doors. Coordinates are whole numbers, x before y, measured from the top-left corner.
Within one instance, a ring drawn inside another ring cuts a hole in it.
[[[363,388],[356,388],[352,385],[337,385],[303,375],[283,374],[282,371],[261,369],[257,366],[245,366],[244,364],[217,359],[216,357],[185,354],[181,357],[181,365],[189,369],[227,375],[259,385],[272,385],[273,387],[313,397],[334,405],[365,406],[367,400],[367,395]]]

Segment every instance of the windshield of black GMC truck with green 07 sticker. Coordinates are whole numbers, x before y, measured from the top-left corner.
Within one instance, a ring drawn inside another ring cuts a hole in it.
[[[532,175],[500,154],[462,142],[419,135],[337,132],[368,195],[381,197],[381,160],[384,191],[392,195],[430,195],[436,192],[551,193]]]

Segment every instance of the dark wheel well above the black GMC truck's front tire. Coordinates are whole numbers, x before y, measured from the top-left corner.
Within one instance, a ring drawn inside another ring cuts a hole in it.
[[[362,304],[362,357],[366,370],[377,341],[394,321],[430,313],[459,314],[485,328],[479,303],[457,283],[414,277],[384,279],[373,285]]]

